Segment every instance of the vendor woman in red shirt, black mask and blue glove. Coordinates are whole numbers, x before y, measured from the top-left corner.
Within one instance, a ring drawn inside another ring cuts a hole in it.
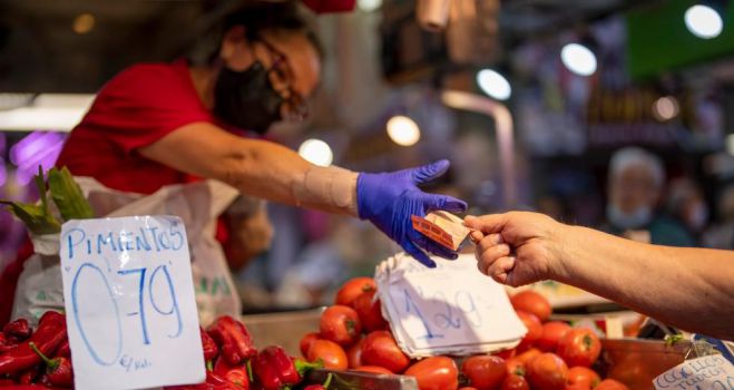
[[[448,162],[356,173],[317,167],[290,148],[241,135],[307,115],[320,49],[294,4],[244,9],[226,18],[222,31],[208,64],[140,64],[109,80],[71,131],[58,165],[127,193],[216,179],[252,197],[368,220],[429,266],[427,252],[456,256],[427,242],[410,220],[430,209],[466,208],[418,187],[442,175]]]

